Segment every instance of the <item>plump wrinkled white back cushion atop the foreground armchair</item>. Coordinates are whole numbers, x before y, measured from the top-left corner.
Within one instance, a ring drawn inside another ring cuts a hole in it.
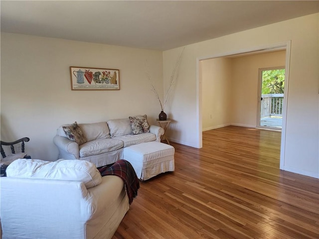
[[[54,162],[39,159],[17,159],[6,169],[7,177],[34,178],[83,182],[86,188],[102,182],[102,176],[93,163],[84,160],[59,159]]]

